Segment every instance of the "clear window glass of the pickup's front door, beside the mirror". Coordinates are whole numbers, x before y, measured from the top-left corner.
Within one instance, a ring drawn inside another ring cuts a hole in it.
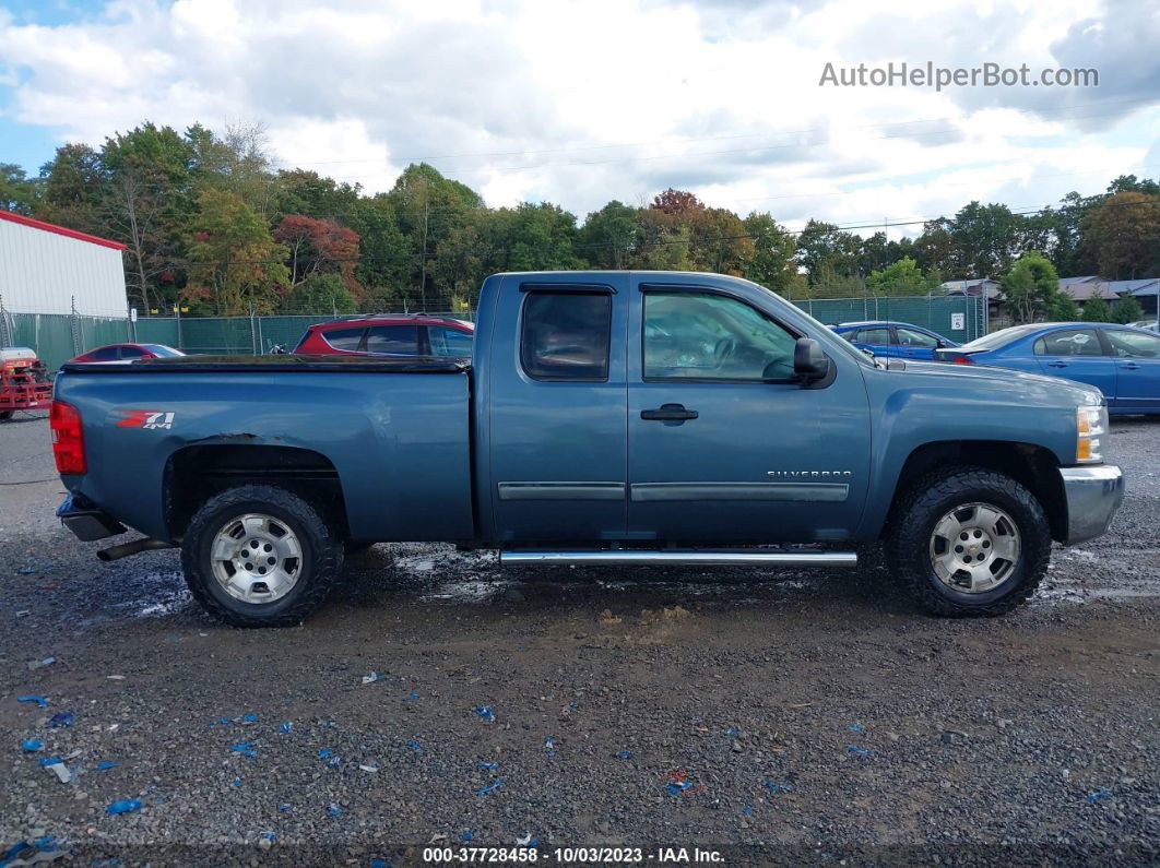
[[[790,380],[797,337],[725,296],[650,292],[645,296],[646,379]]]

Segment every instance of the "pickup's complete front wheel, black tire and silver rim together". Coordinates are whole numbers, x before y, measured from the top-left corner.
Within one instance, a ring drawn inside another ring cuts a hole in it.
[[[1047,571],[1051,528],[1027,488],[994,471],[936,471],[897,504],[885,540],[891,572],[928,612],[1005,614]]]

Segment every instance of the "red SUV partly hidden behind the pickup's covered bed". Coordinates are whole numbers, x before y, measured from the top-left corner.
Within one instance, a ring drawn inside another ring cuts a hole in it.
[[[423,314],[360,316],[306,329],[293,351],[307,356],[440,356],[471,358],[476,327]]]

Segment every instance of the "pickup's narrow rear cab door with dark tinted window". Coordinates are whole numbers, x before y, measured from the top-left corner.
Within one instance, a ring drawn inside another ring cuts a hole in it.
[[[629,282],[585,279],[510,275],[499,292],[486,435],[500,541],[624,535]]]

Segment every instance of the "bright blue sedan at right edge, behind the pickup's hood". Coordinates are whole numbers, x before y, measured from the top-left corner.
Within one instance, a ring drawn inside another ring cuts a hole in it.
[[[1013,326],[956,350],[940,350],[936,359],[1066,377],[1099,388],[1109,413],[1160,413],[1160,335],[1131,326]]]

